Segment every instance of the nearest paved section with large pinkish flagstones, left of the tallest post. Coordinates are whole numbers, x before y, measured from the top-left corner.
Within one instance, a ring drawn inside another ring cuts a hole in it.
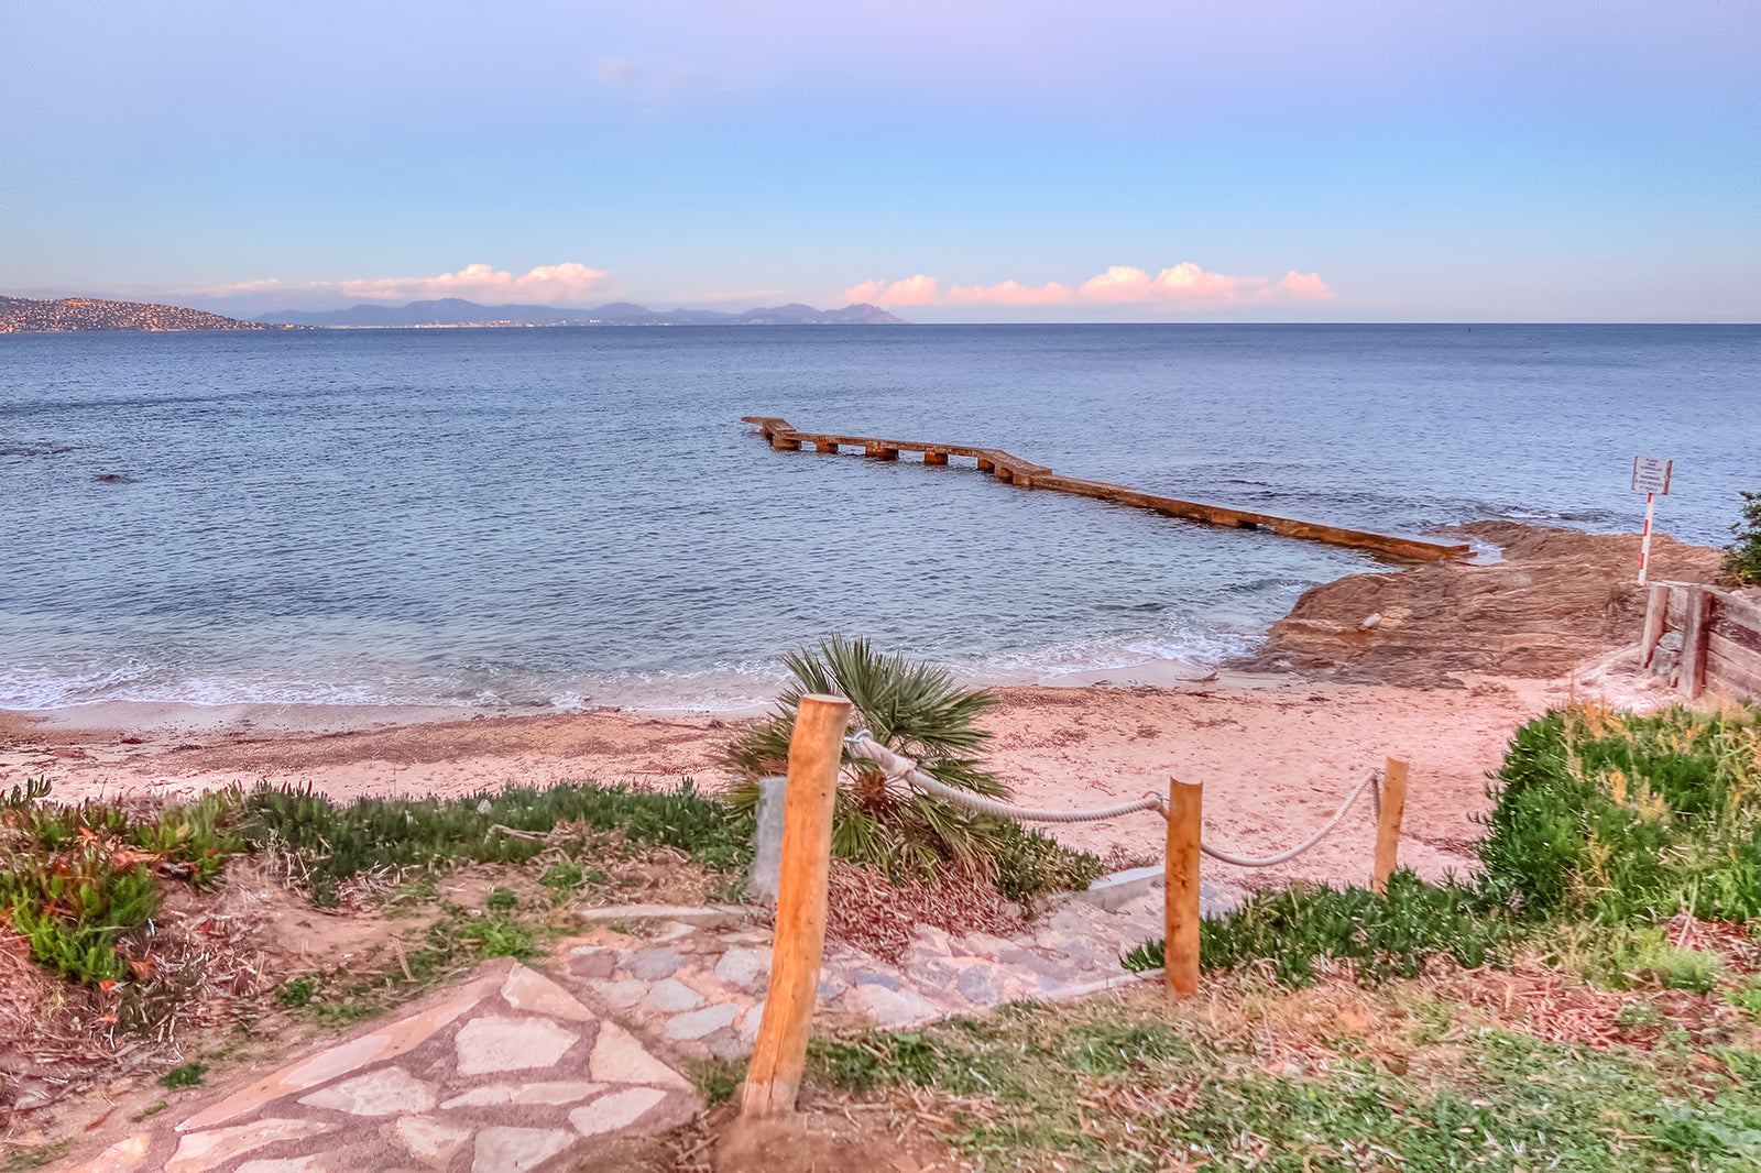
[[[340,1043],[157,1122],[90,1173],[518,1173],[567,1168],[701,1108],[636,1036],[525,965],[490,962]]]

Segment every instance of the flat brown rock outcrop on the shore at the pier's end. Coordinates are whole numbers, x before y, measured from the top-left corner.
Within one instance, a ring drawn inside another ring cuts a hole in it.
[[[1271,627],[1245,668],[1315,678],[1458,687],[1455,673],[1557,676],[1639,638],[1645,588],[1636,534],[1476,521],[1453,530],[1497,544],[1495,565],[1426,564],[1315,586]],[[1710,583],[1722,553],[1652,539],[1652,581]],[[1370,616],[1377,616],[1374,623]]]

